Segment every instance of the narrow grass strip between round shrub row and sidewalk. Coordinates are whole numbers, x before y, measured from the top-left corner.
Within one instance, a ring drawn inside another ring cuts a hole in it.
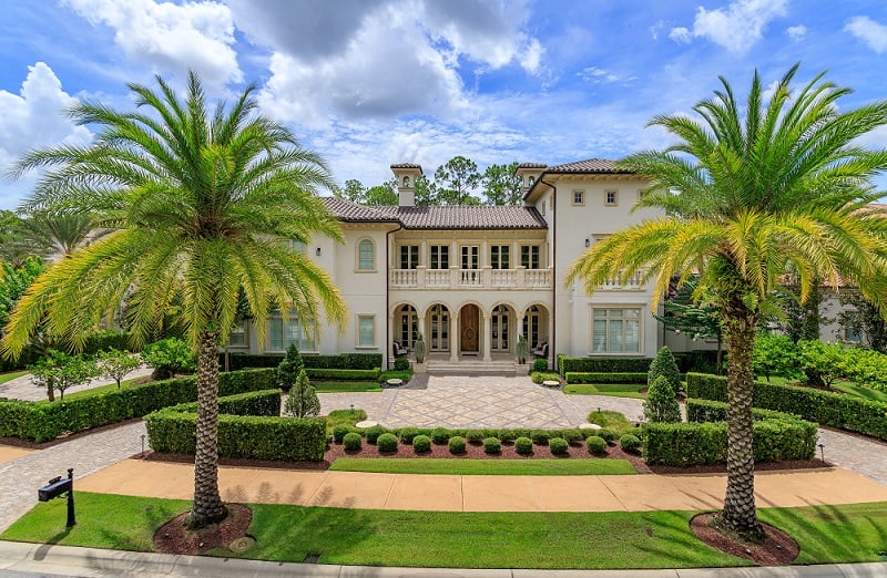
[[[636,474],[625,460],[429,460],[339,457],[329,469],[386,474],[605,476]]]

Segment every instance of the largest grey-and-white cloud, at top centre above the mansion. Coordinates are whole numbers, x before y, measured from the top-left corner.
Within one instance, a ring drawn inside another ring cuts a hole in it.
[[[460,72],[543,69],[544,48],[523,31],[523,1],[313,0],[299,10],[283,0],[228,2],[237,28],[271,51],[263,107],[315,127],[336,118],[465,112]]]

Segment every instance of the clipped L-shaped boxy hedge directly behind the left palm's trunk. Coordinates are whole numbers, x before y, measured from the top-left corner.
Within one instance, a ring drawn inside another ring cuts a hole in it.
[[[276,398],[279,413],[281,390],[222,398],[220,412],[265,412]],[[249,401],[252,400],[252,402]],[[197,414],[194,404],[166,407],[145,416],[151,447],[161,453],[193,454],[196,447]],[[281,417],[279,415],[218,416],[218,456],[287,462],[319,462],[326,450],[325,417]]]

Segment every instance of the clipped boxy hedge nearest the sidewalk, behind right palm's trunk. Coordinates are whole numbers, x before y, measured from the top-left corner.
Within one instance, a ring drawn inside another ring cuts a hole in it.
[[[764,419],[753,424],[755,462],[812,460],[817,425],[792,417]],[[725,464],[726,422],[646,423],[644,461],[650,465],[695,466]]]

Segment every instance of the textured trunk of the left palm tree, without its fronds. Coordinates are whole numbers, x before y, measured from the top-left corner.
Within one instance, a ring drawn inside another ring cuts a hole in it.
[[[194,456],[194,505],[185,520],[202,528],[227,516],[218,493],[218,345],[204,332],[197,354],[197,446]]]

